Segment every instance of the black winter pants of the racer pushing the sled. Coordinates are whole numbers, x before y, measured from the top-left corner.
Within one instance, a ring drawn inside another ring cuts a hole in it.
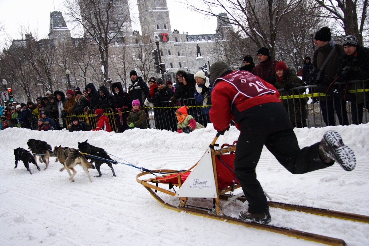
[[[323,163],[319,157],[319,143],[300,149],[293,129],[268,134],[240,134],[237,141],[234,169],[249,202],[248,211],[259,213],[268,209],[263,188],[256,179],[255,173],[264,145],[290,173],[301,174],[323,169],[334,163]]]

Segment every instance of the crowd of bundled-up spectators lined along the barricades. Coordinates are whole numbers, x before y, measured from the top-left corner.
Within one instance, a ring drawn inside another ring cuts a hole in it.
[[[273,60],[268,48],[261,47],[256,55],[259,63],[255,66],[251,55],[244,56],[243,66],[239,70],[248,71],[262,80],[281,89],[282,100],[290,121],[294,127],[306,127],[307,99],[295,97],[305,93],[304,89],[294,87],[317,85],[309,88],[309,93],[321,92],[324,97],[311,96],[311,103],[319,103],[323,120],[326,125],[335,125],[335,115],[339,124],[348,125],[349,119],[346,102],[351,102],[352,124],[361,124],[363,108],[369,111],[369,94],[360,90],[368,89],[369,79],[369,48],[358,45],[354,35],[345,37],[341,44],[335,44],[328,27],[323,27],[314,37],[317,49],[313,59],[305,59],[302,69],[302,80],[293,69],[287,68],[283,61]],[[194,122],[206,127],[210,122],[211,91],[213,90],[210,75],[202,70],[195,74],[179,70],[175,76],[175,83],[170,80],[164,82],[161,78],[151,77],[146,83],[135,70],[130,72],[128,92],[123,90],[120,82],[111,84],[109,92],[106,86],[96,90],[93,83],[86,85],[85,90],[79,87],[74,90],[56,90],[52,94],[46,91],[45,96],[37,97],[37,102],[28,101],[18,104],[1,106],[1,129],[7,127],[22,127],[33,130],[61,130],[67,128],[66,117],[94,113],[98,127],[94,130],[111,131],[111,124],[103,110],[111,108],[114,114],[116,131],[126,129],[155,128],[160,130],[177,131],[181,122],[177,122],[177,109],[186,106],[188,115]],[[349,80],[364,82],[348,84]],[[365,82],[366,80],[366,82]],[[346,84],[335,86],[334,82]],[[148,86],[149,85],[149,86]],[[349,93],[355,90],[355,93]],[[359,93],[357,92],[359,91]],[[289,96],[293,97],[289,97]],[[134,102],[134,104],[132,104]],[[142,107],[142,106],[146,107]],[[152,109],[153,108],[153,109]],[[149,121],[149,111],[154,112],[154,121]],[[91,126],[82,119],[73,116],[68,125],[70,131],[89,131]],[[183,125],[181,125],[183,126]],[[182,131],[181,131],[182,132]]]

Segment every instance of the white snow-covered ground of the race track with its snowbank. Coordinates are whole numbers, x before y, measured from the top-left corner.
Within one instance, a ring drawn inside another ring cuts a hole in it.
[[[296,129],[300,147],[320,141],[329,129],[338,131],[356,154],[357,166],[346,172],[339,165],[308,174],[293,175],[267,150],[256,172],[273,201],[323,207],[369,215],[369,124]],[[77,141],[92,145],[138,167],[186,169],[196,163],[213,141],[212,124],[191,134],[154,129],[106,132],[37,132],[19,128],[0,132],[0,245],[319,245],[163,207],[136,182],[138,169],[106,164],[103,176],[90,183],[81,167],[75,182],[62,165],[51,163],[41,171],[22,162],[14,169],[13,149],[27,149],[30,138],[77,148]],[[231,127],[217,143],[232,143],[238,131]],[[113,159],[117,159],[113,157]],[[119,160],[119,159],[117,159]],[[90,169],[92,175],[96,170]],[[236,190],[237,191],[237,190]],[[237,191],[236,193],[241,192]],[[235,211],[237,214],[238,211]],[[369,224],[271,208],[272,224],[344,239],[349,246],[369,245]]]

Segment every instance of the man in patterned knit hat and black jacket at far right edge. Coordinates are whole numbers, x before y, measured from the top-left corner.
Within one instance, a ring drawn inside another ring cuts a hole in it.
[[[369,89],[369,48],[364,48],[358,44],[358,39],[354,35],[345,37],[342,41],[345,53],[341,55],[341,69],[339,78],[341,81],[347,80],[367,80],[364,82],[349,83],[350,90]],[[358,92],[354,94],[356,100],[351,103],[352,124],[362,124],[363,108],[369,111],[369,93]]]

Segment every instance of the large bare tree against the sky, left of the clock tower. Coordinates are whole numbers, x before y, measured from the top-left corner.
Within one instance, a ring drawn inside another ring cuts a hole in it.
[[[101,72],[108,87],[109,46],[116,37],[131,31],[127,0],[65,0],[65,7],[73,22],[83,26],[88,44],[98,47]]]

